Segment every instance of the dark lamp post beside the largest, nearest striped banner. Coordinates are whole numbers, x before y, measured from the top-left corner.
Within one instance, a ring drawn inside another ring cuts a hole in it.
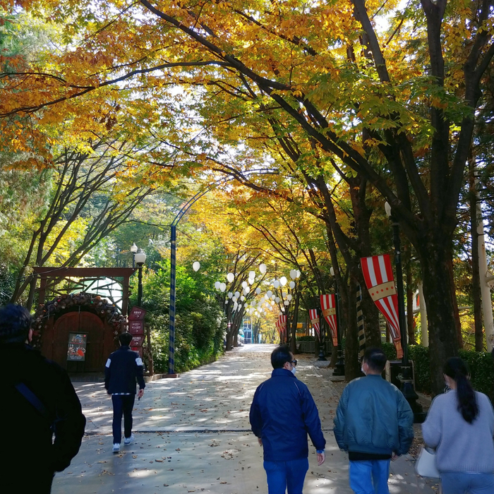
[[[397,298],[398,298],[398,320],[399,335],[402,339],[402,386],[401,391],[406,401],[409,402],[411,410],[414,412],[414,422],[421,423],[425,420],[426,414],[422,405],[417,403],[418,394],[414,390],[414,381],[412,379],[411,366],[408,359],[408,343],[406,342],[406,318],[405,318],[405,300],[403,287],[403,269],[401,244],[399,240],[399,223],[392,215],[391,206],[385,203],[386,215],[391,219],[393,227],[393,244],[394,244],[394,265],[396,267]]]

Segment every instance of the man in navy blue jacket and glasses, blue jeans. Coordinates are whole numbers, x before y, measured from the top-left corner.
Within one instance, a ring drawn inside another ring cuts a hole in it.
[[[295,377],[296,360],[287,346],[271,354],[271,378],[255,390],[249,416],[252,432],[264,447],[269,494],[301,494],[308,470],[307,433],[325,460],[326,440],[308,387]]]

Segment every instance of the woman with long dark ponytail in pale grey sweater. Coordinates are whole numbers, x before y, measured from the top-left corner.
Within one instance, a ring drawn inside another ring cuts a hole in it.
[[[437,453],[442,492],[493,494],[493,406],[472,389],[462,359],[447,359],[442,372],[450,391],[433,399],[422,424],[424,442]]]

